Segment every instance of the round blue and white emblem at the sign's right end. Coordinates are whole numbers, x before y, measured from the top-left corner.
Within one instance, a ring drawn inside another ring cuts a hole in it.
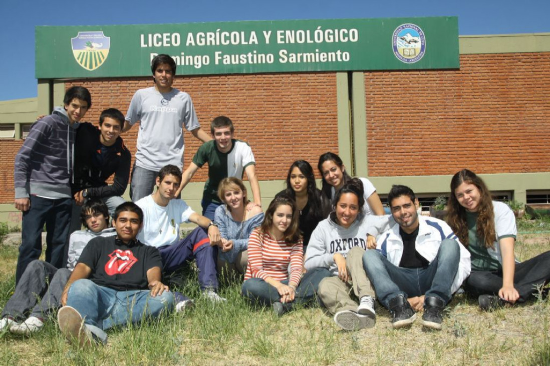
[[[416,24],[401,24],[393,32],[393,53],[407,64],[419,61],[426,53],[424,32]]]

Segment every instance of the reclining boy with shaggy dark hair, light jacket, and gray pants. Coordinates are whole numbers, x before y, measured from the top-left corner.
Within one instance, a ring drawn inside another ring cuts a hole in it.
[[[67,268],[57,269],[40,260],[30,262],[4,306],[0,331],[9,327],[12,333],[30,335],[42,329],[48,314],[61,306],[61,294],[84,247],[91,239],[115,234],[113,228],[108,228],[107,206],[99,200],[89,200],[82,206],[80,221],[86,229],[70,235]]]

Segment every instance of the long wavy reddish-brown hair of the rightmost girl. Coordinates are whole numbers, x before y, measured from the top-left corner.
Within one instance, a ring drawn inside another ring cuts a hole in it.
[[[492,248],[494,246],[496,232],[494,230],[494,211],[491,191],[489,191],[485,182],[483,182],[476,173],[470,170],[463,169],[459,171],[454,174],[453,179],[450,181],[450,195],[447,204],[447,209],[449,210],[447,221],[449,226],[453,229],[462,244],[465,246],[470,244],[468,240],[466,209],[459,204],[455,195],[456,188],[462,183],[474,184],[480,191],[480,202],[476,221],[477,238],[483,241],[485,247]]]

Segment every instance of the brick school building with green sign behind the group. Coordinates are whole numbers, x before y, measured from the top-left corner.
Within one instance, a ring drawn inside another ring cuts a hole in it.
[[[235,137],[251,145],[264,207],[294,160],[309,161],[320,178],[326,151],[381,196],[406,184],[427,205],[469,168],[501,198],[550,203],[550,33],[458,36],[458,19],[438,17],[37,27],[36,34],[38,97],[0,102],[0,222],[10,226],[21,217],[13,206],[15,154],[36,116],[61,105],[74,85],[92,94],[83,121],[97,123],[111,107],[125,114],[135,91],[153,86],[156,53],[177,58],[173,86],[191,95],[205,131],[226,115]],[[122,135],[133,154],[137,133]],[[186,166],[200,141],[185,136]],[[199,170],[183,193],[197,211],[206,173]]]

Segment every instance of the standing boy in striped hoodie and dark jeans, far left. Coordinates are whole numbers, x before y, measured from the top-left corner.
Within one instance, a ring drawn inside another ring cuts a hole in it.
[[[27,264],[40,257],[44,224],[46,262],[56,268],[64,264],[72,206],[74,138],[78,122],[92,105],[90,92],[72,87],[65,93],[63,104],[32,125],[15,156],[15,208],[23,212],[16,284]]]

